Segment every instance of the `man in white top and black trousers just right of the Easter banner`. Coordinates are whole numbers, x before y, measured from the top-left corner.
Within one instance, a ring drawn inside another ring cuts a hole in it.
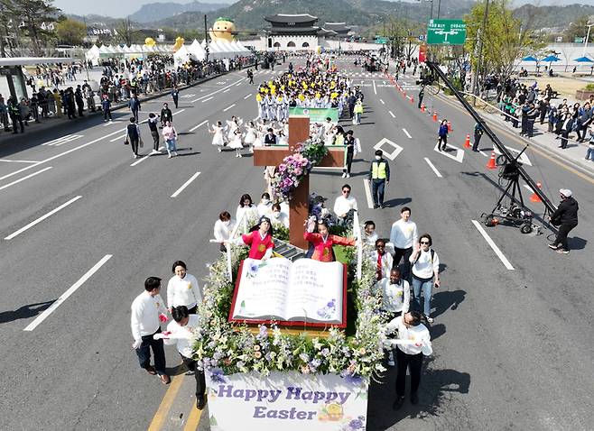
[[[418,404],[419,384],[421,383],[422,356],[433,353],[431,335],[426,326],[421,323],[421,313],[410,311],[403,316],[394,318],[385,326],[385,334],[398,331],[395,340],[386,344],[396,347],[396,399],[392,408],[397,410],[404,404],[404,390],[406,388],[406,369],[411,372],[411,403]]]

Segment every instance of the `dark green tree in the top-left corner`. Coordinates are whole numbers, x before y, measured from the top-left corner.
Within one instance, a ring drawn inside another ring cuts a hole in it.
[[[0,0],[0,4],[14,23],[24,24],[24,35],[31,41],[34,55],[41,56],[42,46],[55,37],[48,24],[56,21],[60,9],[49,0]]]

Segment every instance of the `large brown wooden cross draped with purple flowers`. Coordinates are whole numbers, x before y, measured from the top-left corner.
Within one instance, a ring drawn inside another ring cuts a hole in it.
[[[278,166],[283,159],[296,152],[299,143],[310,138],[310,118],[306,115],[289,117],[289,147],[264,147],[254,149],[254,166]],[[329,148],[318,166],[341,168],[344,166],[345,147]],[[306,175],[289,199],[289,243],[307,250],[303,239],[303,224],[310,214],[310,176]]]

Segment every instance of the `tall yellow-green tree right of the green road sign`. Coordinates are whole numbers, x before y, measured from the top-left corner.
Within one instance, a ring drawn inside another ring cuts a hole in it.
[[[535,15],[524,21],[513,15],[508,0],[492,0],[488,3],[487,26],[483,27],[486,1],[479,0],[465,15],[467,36],[465,48],[470,54],[472,68],[485,76],[497,73],[501,80],[509,78],[515,70],[516,60],[527,54],[536,54],[543,47],[534,33]],[[483,41],[478,52],[478,36]]]

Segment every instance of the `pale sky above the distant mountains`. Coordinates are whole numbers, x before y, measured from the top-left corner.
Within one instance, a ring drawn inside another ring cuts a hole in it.
[[[203,0],[202,3],[231,4],[235,3],[236,1],[237,0]],[[514,3],[516,5],[522,5],[525,3],[540,3],[541,5],[571,5],[573,3],[580,3],[582,5],[588,5],[591,1],[592,0],[515,0]],[[142,5],[147,5],[149,3],[170,2],[178,4],[187,4],[191,3],[191,0],[54,0],[53,5],[59,7],[65,14],[98,14],[112,16],[114,18],[124,18],[129,14],[134,14],[138,9],[140,9],[140,6]]]

